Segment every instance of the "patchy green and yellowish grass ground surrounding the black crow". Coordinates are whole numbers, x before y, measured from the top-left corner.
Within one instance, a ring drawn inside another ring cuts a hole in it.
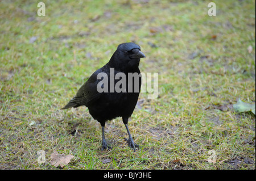
[[[43,2],[46,16],[36,1],[0,2],[0,169],[57,169],[53,151],[75,156],[64,169],[255,169],[255,115],[218,109],[255,103],[255,1],[215,1],[217,16],[208,1]],[[141,94],[129,121],[139,151],[120,118],[100,151],[88,109],[60,108],[129,41],[141,71],[159,73],[159,96]]]

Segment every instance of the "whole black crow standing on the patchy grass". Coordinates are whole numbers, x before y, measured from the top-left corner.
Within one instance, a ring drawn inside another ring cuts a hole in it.
[[[112,120],[115,117],[122,117],[129,135],[127,142],[130,148],[134,150],[139,148],[139,145],[135,144],[131,137],[127,123],[137,104],[141,90],[142,78],[139,71],[139,61],[140,58],[144,57],[141,47],[137,44],[123,43],[118,45],[109,62],[96,70],[77,91],[76,96],[65,107],[61,108],[88,107],[90,115],[100,122],[102,127],[102,150],[111,149],[105,140],[104,127],[107,120]],[[103,75],[107,76],[104,77]],[[116,75],[118,76],[116,77]],[[134,77],[129,79],[131,75]],[[139,76],[136,77],[136,75]],[[105,82],[104,78],[106,78]],[[123,78],[122,84],[119,82],[117,86],[117,82],[121,78]]]

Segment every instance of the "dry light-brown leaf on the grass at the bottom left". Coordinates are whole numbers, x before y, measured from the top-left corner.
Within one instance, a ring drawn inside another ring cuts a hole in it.
[[[53,166],[61,166],[61,168],[64,167],[64,165],[67,165],[71,159],[74,158],[73,155],[65,155],[64,153],[59,154],[57,151],[53,151],[51,154],[51,165]]]

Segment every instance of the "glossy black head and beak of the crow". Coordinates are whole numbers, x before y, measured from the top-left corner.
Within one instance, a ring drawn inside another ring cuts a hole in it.
[[[144,58],[141,47],[135,43],[119,44],[117,50],[110,59],[110,65],[114,68],[126,69],[139,66],[140,58]]]

